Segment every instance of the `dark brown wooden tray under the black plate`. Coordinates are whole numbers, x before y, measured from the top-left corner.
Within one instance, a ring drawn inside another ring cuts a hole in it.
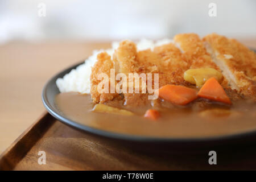
[[[1,170],[191,170],[256,169],[256,145],[217,150],[217,165],[208,152],[148,152],[113,139],[84,133],[48,113],[28,128],[0,156]],[[214,150],[214,149],[213,149]],[[39,151],[46,164],[39,165]]]

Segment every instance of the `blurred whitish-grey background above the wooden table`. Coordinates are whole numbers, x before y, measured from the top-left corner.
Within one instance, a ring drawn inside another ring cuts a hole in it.
[[[38,5],[46,5],[40,17]],[[217,16],[208,15],[216,3]],[[0,0],[0,42],[171,38],[180,32],[256,37],[254,0]]]

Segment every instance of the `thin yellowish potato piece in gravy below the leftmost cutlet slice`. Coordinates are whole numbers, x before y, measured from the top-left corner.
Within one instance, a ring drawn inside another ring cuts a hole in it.
[[[96,104],[93,108],[93,111],[110,114],[134,115],[131,111],[118,109],[116,107],[107,106],[105,104]]]

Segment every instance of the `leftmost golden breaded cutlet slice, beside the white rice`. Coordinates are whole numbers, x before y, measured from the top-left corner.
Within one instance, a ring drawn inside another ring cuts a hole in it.
[[[110,69],[112,68],[114,68],[114,64],[111,60],[111,56],[106,52],[99,53],[97,55],[97,62],[93,65],[90,75],[90,94],[93,102],[103,103],[119,96],[117,93],[110,93]],[[97,79],[100,73],[106,73],[109,77],[109,93],[99,93],[97,90],[97,86],[101,82],[101,80]]]

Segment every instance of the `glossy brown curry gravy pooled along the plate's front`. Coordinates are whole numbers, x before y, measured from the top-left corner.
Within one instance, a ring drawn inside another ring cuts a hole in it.
[[[164,103],[160,110],[161,117],[152,121],[143,118],[144,111],[151,105],[129,107],[123,106],[121,102],[106,103],[135,113],[125,116],[92,111],[94,104],[90,94],[67,92],[56,96],[56,105],[67,118],[85,126],[114,133],[159,138],[202,138],[256,130],[256,106],[245,101],[234,103],[230,109],[212,103],[210,106],[203,106],[203,109],[196,106],[164,106]],[[220,114],[218,109],[224,111]]]

